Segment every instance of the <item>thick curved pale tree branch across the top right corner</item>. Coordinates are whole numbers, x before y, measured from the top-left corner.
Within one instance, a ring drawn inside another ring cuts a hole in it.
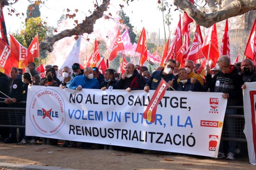
[[[250,10],[256,9],[256,0],[233,0],[222,7],[222,9],[212,13],[201,12],[189,0],[174,0],[173,2],[174,5],[186,11],[196,24],[206,28],[227,18],[242,15]]]

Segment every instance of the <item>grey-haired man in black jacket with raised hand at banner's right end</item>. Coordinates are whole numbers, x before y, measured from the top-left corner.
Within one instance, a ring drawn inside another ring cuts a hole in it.
[[[241,86],[243,80],[238,74],[238,70],[234,65],[229,65],[230,60],[227,55],[222,55],[218,58],[217,64],[220,67],[218,72],[213,78],[210,75],[210,67],[205,66],[206,71],[206,83],[209,88],[214,88],[214,92],[222,92],[222,97],[227,99],[227,105],[238,105],[240,104],[240,98],[243,98]],[[225,115],[234,115],[236,109],[226,109]],[[228,130],[228,136],[231,138],[236,137],[234,120],[227,118],[226,126]],[[229,141],[229,150],[227,159],[234,160],[234,150],[236,147],[235,141]],[[223,153],[223,141],[220,142],[218,158],[225,158]]]

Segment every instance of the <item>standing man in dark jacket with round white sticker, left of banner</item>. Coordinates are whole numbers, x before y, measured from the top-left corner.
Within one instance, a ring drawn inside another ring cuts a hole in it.
[[[16,68],[11,69],[11,78],[7,82],[8,84],[8,96],[10,98],[6,98],[4,102],[8,104],[8,108],[19,108],[21,105],[17,104],[17,102],[22,100],[22,85],[23,82],[20,77],[17,77],[18,70]],[[14,115],[13,113],[8,114],[9,121],[14,121],[15,117],[19,115]],[[15,122],[12,122],[12,124]],[[10,128],[10,137],[4,140],[4,143],[16,143],[16,132],[17,128]]]

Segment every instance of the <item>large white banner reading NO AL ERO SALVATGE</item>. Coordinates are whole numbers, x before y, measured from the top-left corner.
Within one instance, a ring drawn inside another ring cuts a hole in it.
[[[26,135],[217,157],[222,93],[167,91],[150,123],[153,93],[29,86]]]

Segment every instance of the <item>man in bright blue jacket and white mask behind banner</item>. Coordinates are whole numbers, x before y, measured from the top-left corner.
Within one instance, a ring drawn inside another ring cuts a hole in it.
[[[83,89],[98,89],[99,82],[93,78],[93,70],[90,67],[85,68],[85,72],[81,76],[75,78],[67,86],[69,89],[82,90]]]

